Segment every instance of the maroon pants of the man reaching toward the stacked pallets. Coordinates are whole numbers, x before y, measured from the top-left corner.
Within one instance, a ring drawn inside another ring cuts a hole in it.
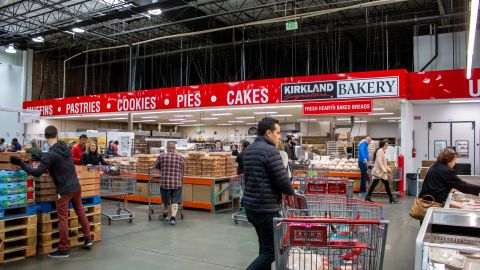
[[[56,201],[58,215],[58,231],[60,234],[60,243],[58,243],[58,249],[60,251],[68,251],[69,247],[68,204],[70,201],[72,201],[73,209],[78,216],[80,224],[82,224],[84,239],[90,239],[90,223],[88,222],[85,211],[83,210],[81,191],[64,194]]]

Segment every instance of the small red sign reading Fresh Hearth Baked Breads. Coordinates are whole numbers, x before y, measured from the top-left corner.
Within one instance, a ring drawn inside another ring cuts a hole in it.
[[[322,101],[303,104],[304,115],[370,113],[372,109],[372,100]]]

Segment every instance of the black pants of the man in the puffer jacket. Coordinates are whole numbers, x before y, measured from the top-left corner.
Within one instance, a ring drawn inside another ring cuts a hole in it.
[[[247,210],[247,218],[252,223],[258,236],[258,257],[247,267],[247,270],[270,270],[275,261],[273,218],[279,213],[254,214]]]

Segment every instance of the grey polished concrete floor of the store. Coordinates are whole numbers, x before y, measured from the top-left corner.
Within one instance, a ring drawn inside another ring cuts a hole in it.
[[[373,198],[387,203],[385,198]],[[390,221],[384,269],[413,269],[415,237],[418,222],[408,211],[413,198],[397,205],[385,205]],[[104,201],[103,204],[111,204]],[[71,249],[68,259],[49,259],[37,255],[19,262],[2,265],[5,270],[123,270],[123,269],[245,269],[256,257],[258,244],[255,231],[247,224],[235,225],[231,212],[212,215],[184,211],[185,220],[170,226],[147,219],[147,206],[130,204],[137,217],[133,224],[104,220],[103,240],[92,250]]]

